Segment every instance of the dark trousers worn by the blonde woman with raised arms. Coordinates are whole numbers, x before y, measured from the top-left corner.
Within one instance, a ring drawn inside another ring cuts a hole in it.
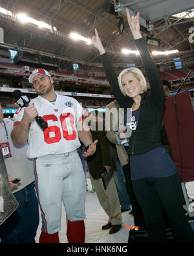
[[[194,232],[182,207],[180,176],[147,178],[132,181],[138,203],[144,214],[151,242],[167,242],[161,203],[169,218],[177,242],[194,243]]]

